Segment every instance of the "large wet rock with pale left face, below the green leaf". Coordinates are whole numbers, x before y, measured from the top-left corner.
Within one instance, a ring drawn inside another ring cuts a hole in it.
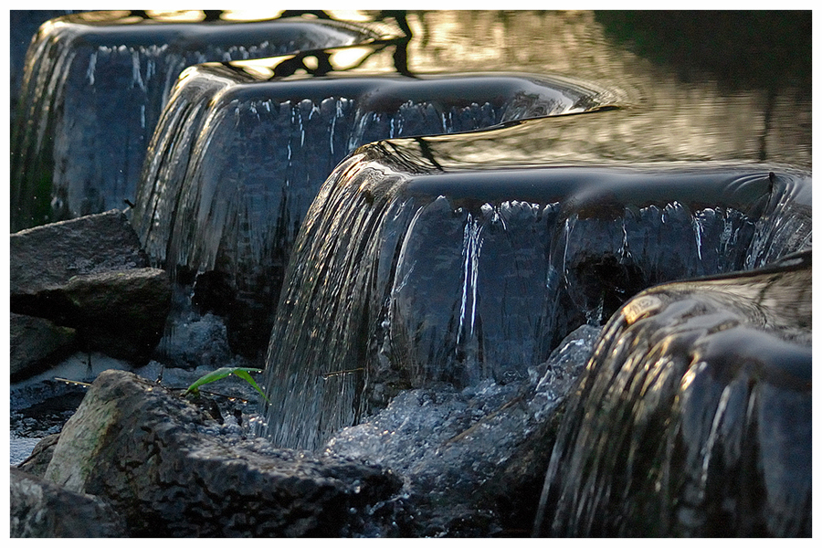
[[[351,459],[217,437],[197,407],[121,371],[90,386],[46,479],[110,501],[132,536],[345,536],[400,487]]]

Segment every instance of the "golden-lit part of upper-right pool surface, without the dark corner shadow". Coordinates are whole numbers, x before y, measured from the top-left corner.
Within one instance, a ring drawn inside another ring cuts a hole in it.
[[[674,68],[606,36],[593,12],[426,12],[409,14],[408,24],[414,32],[408,46],[412,72],[559,73],[627,93],[626,111],[546,121],[538,142],[524,138],[539,125],[532,124],[508,148],[479,147],[482,154],[811,165],[811,100],[804,90],[774,90],[769,103],[772,90],[723,90],[707,73],[684,82]],[[470,146],[459,153],[470,155]]]

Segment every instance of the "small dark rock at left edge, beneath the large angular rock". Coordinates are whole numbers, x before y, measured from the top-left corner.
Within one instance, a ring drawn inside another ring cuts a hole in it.
[[[68,356],[75,348],[76,332],[34,316],[11,314],[11,379],[37,373]]]

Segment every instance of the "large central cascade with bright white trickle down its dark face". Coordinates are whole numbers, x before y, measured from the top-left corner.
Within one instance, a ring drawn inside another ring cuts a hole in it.
[[[801,210],[809,185],[753,166],[438,160],[436,138],[365,146],[313,203],[269,343],[275,443],[317,448],[402,389],[522,379],[638,290],[743,269],[775,209]],[[792,226],[809,237],[809,221]]]

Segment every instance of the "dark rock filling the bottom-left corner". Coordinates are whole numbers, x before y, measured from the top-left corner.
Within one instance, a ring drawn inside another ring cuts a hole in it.
[[[122,537],[120,516],[99,498],[81,495],[11,467],[12,538]]]

